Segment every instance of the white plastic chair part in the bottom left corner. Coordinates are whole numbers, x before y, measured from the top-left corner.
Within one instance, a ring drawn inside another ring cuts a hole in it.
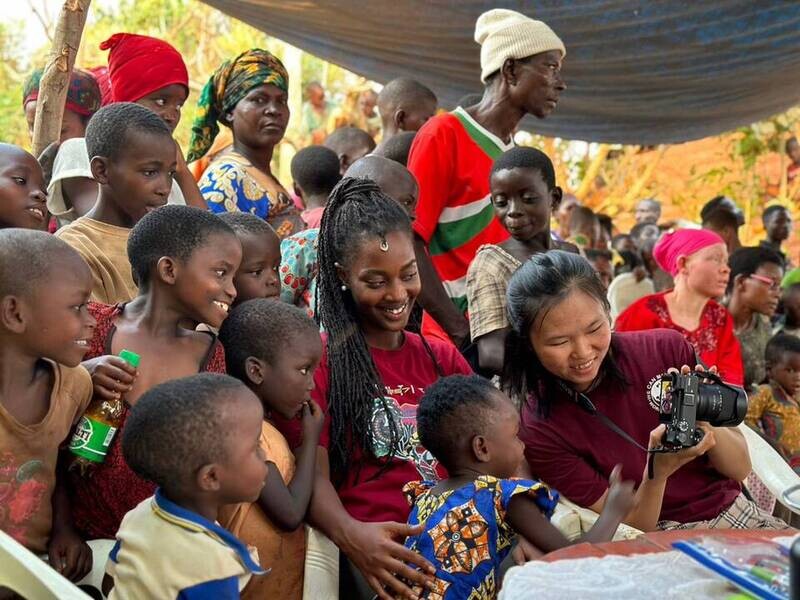
[[[91,596],[3,531],[0,531],[0,586],[31,600],[91,600]]]

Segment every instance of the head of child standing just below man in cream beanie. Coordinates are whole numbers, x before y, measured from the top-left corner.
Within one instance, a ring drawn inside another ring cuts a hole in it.
[[[495,215],[511,237],[528,242],[550,235],[562,192],[544,152],[522,146],[504,152],[492,165],[489,187]]]

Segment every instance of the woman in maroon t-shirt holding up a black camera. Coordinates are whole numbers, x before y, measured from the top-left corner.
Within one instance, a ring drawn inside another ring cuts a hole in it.
[[[623,479],[638,486],[623,520],[644,531],[786,526],[742,495],[751,467],[736,428],[699,423],[700,443],[652,455],[650,479],[648,453],[584,408],[590,401],[636,444],[659,446],[660,378],[695,367],[692,346],[674,331],[612,334],[605,290],[586,259],[559,250],[531,258],[509,283],[508,315],[503,385],[527,396],[519,436],[535,477],[601,512],[621,462]]]

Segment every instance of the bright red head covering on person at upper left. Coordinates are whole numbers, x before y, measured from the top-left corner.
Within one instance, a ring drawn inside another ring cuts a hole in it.
[[[189,73],[183,57],[163,40],[115,33],[100,44],[108,53],[108,77],[114,102],[136,102],[172,84],[189,90]]]

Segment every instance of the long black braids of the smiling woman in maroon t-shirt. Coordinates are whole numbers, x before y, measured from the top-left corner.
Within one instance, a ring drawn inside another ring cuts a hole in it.
[[[356,448],[376,456],[372,437],[374,408],[385,411],[389,425],[389,447],[383,468],[400,451],[400,431],[359,327],[352,294],[342,289],[337,269],[337,265],[351,264],[366,239],[385,239],[394,231],[412,235],[411,222],[403,208],[383,194],[373,181],[346,177],[331,192],[319,231],[317,318],[328,334],[331,417],[328,450],[336,484],[347,476]],[[360,464],[356,469],[358,476]]]

